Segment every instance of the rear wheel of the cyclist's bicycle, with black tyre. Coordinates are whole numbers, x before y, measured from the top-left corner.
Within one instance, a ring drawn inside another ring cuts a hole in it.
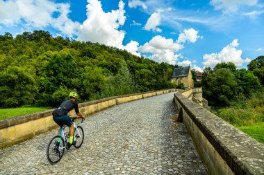
[[[63,154],[65,151],[65,141],[63,138],[60,138],[60,142],[58,142],[58,138],[60,136],[55,136],[49,141],[49,145],[47,147],[47,159],[49,163],[55,164],[63,158]]]

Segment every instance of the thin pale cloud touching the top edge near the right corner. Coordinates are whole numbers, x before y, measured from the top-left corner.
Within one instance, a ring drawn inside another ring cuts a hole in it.
[[[236,12],[240,6],[255,6],[258,0],[211,0],[210,4],[216,10],[224,12]]]

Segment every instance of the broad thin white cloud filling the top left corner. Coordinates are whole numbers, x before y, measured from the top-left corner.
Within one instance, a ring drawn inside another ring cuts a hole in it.
[[[69,3],[53,3],[49,0],[0,0],[0,4],[0,24],[5,26],[53,26],[67,35],[73,35],[80,25],[67,17],[70,12]],[[53,13],[58,13],[58,17],[54,18]]]

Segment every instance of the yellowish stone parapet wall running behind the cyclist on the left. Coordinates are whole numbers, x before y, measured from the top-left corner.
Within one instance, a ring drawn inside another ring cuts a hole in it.
[[[113,107],[117,104],[124,102],[130,102],[133,100],[139,100],[142,98],[148,98],[154,95],[161,95],[164,93],[170,93],[177,91],[177,89],[165,89],[160,91],[151,91],[147,93],[137,93],[130,95],[120,95],[113,98],[104,98],[101,100],[94,100],[92,102],[84,102],[79,104],[81,113],[85,116],[89,116],[98,111]],[[0,149],[15,145],[18,142],[28,140],[34,136],[38,136],[40,133],[55,129],[58,125],[53,122],[52,110],[42,111],[39,113],[33,113],[25,116],[19,116],[15,118],[8,118],[0,120]],[[69,112],[70,116],[75,116],[74,110]]]

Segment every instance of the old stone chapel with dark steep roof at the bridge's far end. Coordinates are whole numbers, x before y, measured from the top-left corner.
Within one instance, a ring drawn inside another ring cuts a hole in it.
[[[176,84],[184,84],[185,88],[193,88],[192,72],[190,66],[174,68],[174,71],[170,77],[172,82]]]

